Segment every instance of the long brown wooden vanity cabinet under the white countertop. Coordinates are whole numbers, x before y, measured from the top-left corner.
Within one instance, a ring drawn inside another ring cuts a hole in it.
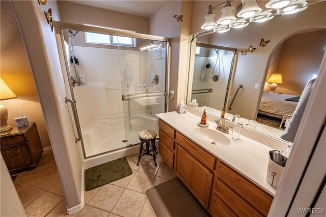
[[[267,216],[271,195],[162,120],[159,153],[213,217]]]

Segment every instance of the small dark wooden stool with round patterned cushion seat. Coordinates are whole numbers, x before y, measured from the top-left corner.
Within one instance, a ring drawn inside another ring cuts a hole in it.
[[[141,140],[140,146],[139,146],[139,155],[138,155],[138,163],[137,166],[139,166],[139,162],[141,161],[141,158],[146,154],[146,156],[150,155],[153,157],[155,167],[157,166],[156,160],[155,160],[155,154],[156,152],[156,146],[155,146],[155,139],[157,136],[157,133],[152,130],[143,130],[138,133],[139,139]],[[146,149],[144,148],[144,143],[146,144]],[[152,149],[149,150],[149,144],[151,143]],[[142,153],[143,150],[145,153]],[[151,151],[153,153],[151,153]]]

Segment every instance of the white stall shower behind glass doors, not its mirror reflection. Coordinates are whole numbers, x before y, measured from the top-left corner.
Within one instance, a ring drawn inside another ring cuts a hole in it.
[[[80,147],[88,159],[138,144],[141,130],[158,132],[156,114],[167,109],[169,42],[162,37],[78,26],[62,28],[61,42],[68,71],[66,86],[75,102],[75,111],[70,112],[72,125],[75,137],[81,134]]]

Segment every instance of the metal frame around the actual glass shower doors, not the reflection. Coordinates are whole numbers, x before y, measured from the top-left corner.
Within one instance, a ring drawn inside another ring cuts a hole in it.
[[[75,121],[75,127],[77,130],[77,133],[79,134],[79,132],[80,132],[80,140],[78,140],[78,141],[80,141],[80,143],[81,143],[84,159],[86,160],[86,159],[94,158],[94,157],[100,156],[100,155],[108,153],[108,152],[116,151],[119,149],[134,146],[134,145],[138,145],[138,144],[129,145],[129,146],[125,146],[122,148],[105,151],[102,153],[98,153],[98,154],[94,154],[92,156],[86,157],[83,136],[82,136],[82,133],[80,130],[79,118],[78,118],[77,109],[76,109],[76,105],[75,105],[76,101],[75,101],[75,97],[74,97],[74,93],[73,93],[73,81],[71,79],[72,73],[70,73],[70,71],[69,71],[69,63],[66,58],[70,54],[67,55],[67,52],[65,50],[65,46],[64,46],[65,41],[64,41],[63,32],[65,29],[70,29],[70,30],[81,31],[81,32],[90,32],[90,33],[98,33],[98,34],[105,34],[105,35],[123,36],[123,37],[129,37],[129,38],[138,38],[138,39],[166,42],[167,43],[166,44],[166,58],[167,58],[166,59],[166,78],[165,78],[166,79],[166,91],[164,93],[165,112],[169,111],[169,97],[168,97],[169,94],[168,94],[168,92],[169,92],[169,88],[170,88],[170,65],[171,65],[170,38],[160,37],[160,36],[152,36],[152,35],[146,35],[146,34],[140,34],[140,33],[123,32],[123,31],[115,30],[115,29],[107,29],[107,28],[88,26],[88,25],[80,25],[80,24],[60,22],[60,21],[53,21],[53,25],[55,27],[55,33],[60,35],[61,46],[63,49],[64,61],[65,61],[65,66],[66,66],[66,73],[67,73],[67,77],[68,77],[70,95],[72,98],[71,100],[68,99],[68,101],[72,104],[72,112],[74,114],[74,121]],[[140,95],[144,95],[144,94],[140,94]],[[76,143],[78,141],[76,138]]]

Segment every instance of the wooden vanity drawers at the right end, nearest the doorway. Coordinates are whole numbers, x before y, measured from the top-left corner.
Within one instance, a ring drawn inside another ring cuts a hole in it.
[[[267,216],[273,197],[261,190],[247,178],[218,161],[216,178],[212,189],[209,211],[225,209],[224,205],[215,200],[221,200],[238,216]]]

